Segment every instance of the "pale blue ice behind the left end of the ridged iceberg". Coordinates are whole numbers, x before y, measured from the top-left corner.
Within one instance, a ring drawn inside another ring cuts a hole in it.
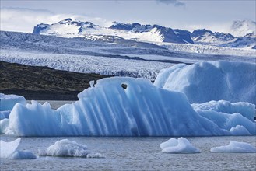
[[[16,103],[26,105],[26,99],[23,96],[0,93],[0,111],[12,110]]]

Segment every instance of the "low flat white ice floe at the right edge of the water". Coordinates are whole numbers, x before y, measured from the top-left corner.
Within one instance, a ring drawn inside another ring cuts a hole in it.
[[[229,145],[211,148],[211,152],[254,153],[256,148],[246,142],[230,141]]]

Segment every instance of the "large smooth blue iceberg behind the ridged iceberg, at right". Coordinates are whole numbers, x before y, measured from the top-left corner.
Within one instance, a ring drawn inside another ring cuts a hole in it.
[[[157,75],[154,85],[184,92],[190,103],[224,99],[256,104],[256,65],[237,61],[174,65]]]

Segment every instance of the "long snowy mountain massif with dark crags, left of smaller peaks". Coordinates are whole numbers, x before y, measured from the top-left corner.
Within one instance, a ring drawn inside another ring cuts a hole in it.
[[[58,37],[92,37],[117,36],[124,39],[152,41],[152,42],[170,42],[180,44],[193,44],[190,32],[184,30],[173,30],[158,25],[141,25],[139,23],[124,24],[117,23],[110,27],[102,27],[90,22],[73,21],[64,19],[54,24],[39,24],[34,27],[33,33],[54,35]]]

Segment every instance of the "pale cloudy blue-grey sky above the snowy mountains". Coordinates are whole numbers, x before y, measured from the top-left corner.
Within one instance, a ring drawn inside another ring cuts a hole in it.
[[[37,23],[56,23],[69,17],[105,26],[118,21],[225,32],[234,20],[255,21],[255,8],[255,0],[1,0],[0,22],[1,30],[29,33]]]

